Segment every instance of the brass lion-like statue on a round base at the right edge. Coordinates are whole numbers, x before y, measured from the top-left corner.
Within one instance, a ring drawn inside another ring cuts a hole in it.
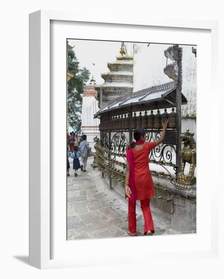
[[[178,173],[175,186],[179,189],[191,190],[193,184],[196,182],[194,176],[196,167],[196,142],[194,140],[195,133],[190,133],[190,129],[186,129],[186,132],[180,134],[181,142],[184,147],[181,150],[181,169]],[[188,175],[184,175],[185,164],[190,164],[190,170]]]

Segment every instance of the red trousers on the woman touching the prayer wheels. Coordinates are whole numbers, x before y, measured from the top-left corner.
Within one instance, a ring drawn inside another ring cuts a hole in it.
[[[144,234],[148,230],[154,231],[153,218],[150,210],[150,198],[140,200],[141,210],[144,216]],[[136,234],[136,202],[131,202],[128,199],[128,229],[132,234]]]

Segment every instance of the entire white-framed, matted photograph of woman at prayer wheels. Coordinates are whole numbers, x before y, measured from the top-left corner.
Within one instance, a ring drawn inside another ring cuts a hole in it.
[[[217,257],[218,23],[29,26],[29,264]]]

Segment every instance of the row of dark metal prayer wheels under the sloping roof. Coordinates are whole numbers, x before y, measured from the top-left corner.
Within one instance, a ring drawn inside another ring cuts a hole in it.
[[[129,122],[131,121],[131,127],[134,129],[136,127],[142,128],[155,128],[161,129],[162,122],[169,118],[169,123],[167,128],[176,128],[176,113],[174,108],[172,108],[171,113],[167,113],[167,109],[164,109],[164,113],[160,113],[160,110],[157,111],[157,114],[154,114],[151,111],[151,114],[148,115],[145,111],[144,115],[139,113],[139,116],[136,116],[136,113],[132,117],[125,115],[113,116],[110,120],[105,120],[100,122],[99,130],[125,130],[129,129]]]

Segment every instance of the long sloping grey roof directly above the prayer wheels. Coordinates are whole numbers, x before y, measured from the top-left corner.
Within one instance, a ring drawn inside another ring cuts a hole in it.
[[[120,112],[122,113],[122,111],[128,111],[130,106],[132,106],[135,111],[175,107],[175,95],[175,82],[152,86],[111,100],[111,102],[94,115],[94,118],[111,111],[115,111],[115,113],[119,114]],[[181,99],[182,104],[188,102],[182,93]]]

